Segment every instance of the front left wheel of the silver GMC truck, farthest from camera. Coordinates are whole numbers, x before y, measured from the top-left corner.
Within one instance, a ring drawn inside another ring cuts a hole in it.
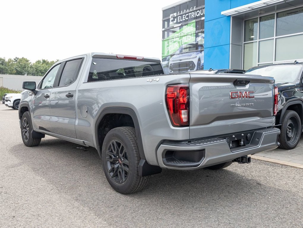
[[[25,112],[21,118],[21,137],[25,146],[35,147],[38,146],[41,142],[41,138],[32,138],[32,120],[29,116],[29,112]]]

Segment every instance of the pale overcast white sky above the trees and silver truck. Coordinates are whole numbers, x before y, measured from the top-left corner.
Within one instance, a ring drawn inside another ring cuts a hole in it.
[[[179,0],[1,0],[0,58],[88,52],[161,58],[162,8]]]

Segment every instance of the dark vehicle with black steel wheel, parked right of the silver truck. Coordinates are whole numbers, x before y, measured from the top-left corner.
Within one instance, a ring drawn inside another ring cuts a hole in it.
[[[297,146],[303,123],[303,63],[271,64],[250,68],[244,74],[259,74],[275,78],[278,87],[276,125],[280,128],[280,148]]]

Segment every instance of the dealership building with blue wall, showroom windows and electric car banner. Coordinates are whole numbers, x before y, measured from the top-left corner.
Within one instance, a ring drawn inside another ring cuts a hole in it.
[[[183,0],[162,11],[170,73],[303,61],[303,0]]]

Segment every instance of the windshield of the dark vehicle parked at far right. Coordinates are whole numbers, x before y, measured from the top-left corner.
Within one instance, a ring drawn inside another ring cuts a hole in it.
[[[271,65],[260,68],[252,68],[245,74],[259,74],[261,76],[275,78],[275,83],[293,83],[295,84],[302,65]]]

